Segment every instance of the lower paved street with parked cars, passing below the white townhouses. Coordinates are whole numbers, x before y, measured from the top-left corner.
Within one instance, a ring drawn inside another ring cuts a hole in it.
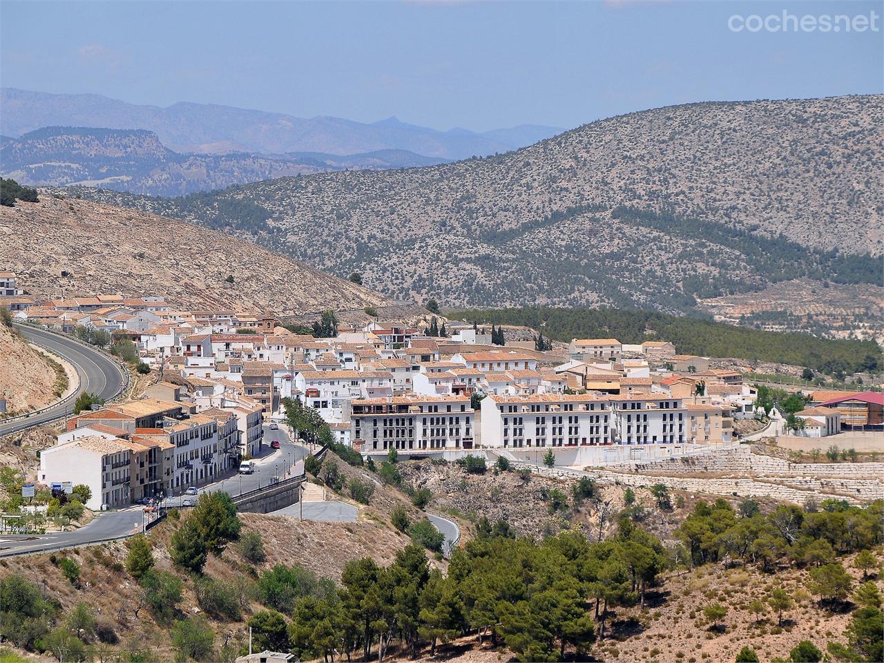
[[[273,440],[279,441],[279,449],[271,449]],[[267,481],[274,476],[280,480],[286,473],[286,465],[293,467],[297,461],[309,453],[309,450],[300,445],[293,445],[285,431],[271,431],[264,427],[264,455],[255,461],[257,469],[255,474],[241,475],[242,492],[249,492],[258,487],[258,484],[266,485]],[[232,496],[240,494],[240,475],[232,475],[217,484],[202,486],[199,492],[223,490]],[[179,506],[182,498],[177,497],[169,500],[170,507]],[[113,538],[127,537],[134,531],[141,529],[141,519],[145,517],[141,507],[132,507],[122,511],[111,511],[97,514],[95,520],[86,527],[70,532],[53,532],[36,537],[15,537],[0,534],[0,557],[9,557],[26,552],[47,552],[59,548],[72,547],[106,541]]]

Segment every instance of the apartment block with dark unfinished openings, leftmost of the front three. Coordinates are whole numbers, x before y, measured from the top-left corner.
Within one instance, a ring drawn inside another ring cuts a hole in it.
[[[467,396],[392,396],[354,400],[353,446],[363,453],[402,450],[471,449],[475,412]]]

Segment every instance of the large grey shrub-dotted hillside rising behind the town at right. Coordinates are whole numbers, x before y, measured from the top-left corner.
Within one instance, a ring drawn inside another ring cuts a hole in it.
[[[361,271],[397,297],[690,311],[794,278],[880,283],[882,102],[697,103],[502,156],[124,202]],[[225,220],[243,203],[265,220]]]

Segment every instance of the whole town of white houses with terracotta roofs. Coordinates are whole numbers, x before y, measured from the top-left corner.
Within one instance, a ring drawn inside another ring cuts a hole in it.
[[[0,304],[13,319],[81,338],[107,332],[131,341],[149,368],[138,400],[69,417],[41,455],[40,483],[87,484],[96,509],[179,495],[236,471],[263,453],[263,425],[282,423],[289,399],[364,456],[539,448],[561,464],[575,462],[561,454],[568,448],[597,448],[582,458],[598,464],[648,450],[659,458],[727,449],[739,437],[735,422],[763,413],[742,373],[710,368],[708,357],[679,354],[666,340],[572,339],[538,350],[536,340],[507,342],[493,325],[439,326],[435,316],[423,326],[341,324],[331,312],[303,333],[266,311],[177,310],[159,296],[34,301],[13,274],[3,278]],[[796,434],[880,427],[880,394],[810,399]],[[624,447],[634,451],[602,451]]]

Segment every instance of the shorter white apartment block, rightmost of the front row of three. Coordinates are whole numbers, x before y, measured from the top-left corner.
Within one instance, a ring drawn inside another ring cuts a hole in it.
[[[682,399],[650,393],[610,396],[613,442],[653,445],[686,442]]]

